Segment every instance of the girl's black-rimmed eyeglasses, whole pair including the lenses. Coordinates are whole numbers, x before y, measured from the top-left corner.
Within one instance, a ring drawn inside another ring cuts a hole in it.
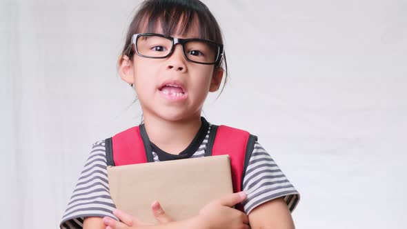
[[[206,39],[180,39],[163,34],[141,33],[132,36],[137,55],[140,57],[164,59],[174,52],[180,43],[183,56],[191,62],[217,64],[224,54],[224,45]]]

